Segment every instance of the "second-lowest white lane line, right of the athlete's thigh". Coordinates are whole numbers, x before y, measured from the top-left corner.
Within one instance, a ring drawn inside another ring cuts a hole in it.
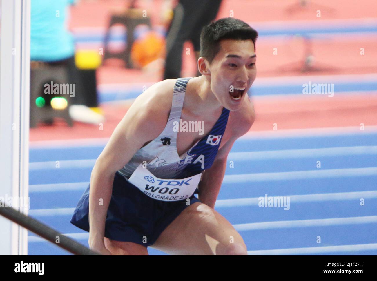
[[[233,227],[236,229],[236,231],[249,231],[258,229],[305,228],[312,226],[333,226],[363,223],[377,223],[377,215],[347,218],[320,218],[314,220],[265,221],[262,223],[233,224]]]

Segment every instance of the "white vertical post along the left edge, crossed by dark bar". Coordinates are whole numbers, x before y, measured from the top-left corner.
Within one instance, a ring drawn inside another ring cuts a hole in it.
[[[0,0],[0,197],[28,197],[30,0]],[[16,208],[27,214],[27,209]],[[0,217],[0,254],[26,255],[27,231]]]

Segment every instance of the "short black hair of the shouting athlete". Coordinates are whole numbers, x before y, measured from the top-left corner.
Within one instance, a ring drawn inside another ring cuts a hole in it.
[[[222,39],[251,39],[255,49],[257,37],[258,32],[244,21],[233,17],[221,18],[203,27],[200,34],[200,56],[211,64],[220,51]]]

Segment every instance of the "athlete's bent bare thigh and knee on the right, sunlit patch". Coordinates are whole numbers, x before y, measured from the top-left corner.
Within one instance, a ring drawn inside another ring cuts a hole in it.
[[[173,255],[245,255],[241,235],[215,209],[196,202],[150,246]]]

